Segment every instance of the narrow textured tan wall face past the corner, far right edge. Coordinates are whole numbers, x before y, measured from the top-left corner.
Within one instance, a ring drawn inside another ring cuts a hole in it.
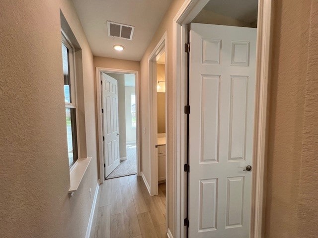
[[[318,237],[318,1],[312,0],[305,91],[298,237]]]

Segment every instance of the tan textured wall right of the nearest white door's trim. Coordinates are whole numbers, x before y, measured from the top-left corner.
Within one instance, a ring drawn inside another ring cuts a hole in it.
[[[318,6],[316,0],[277,0],[273,9],[265,237],[314,238]]]

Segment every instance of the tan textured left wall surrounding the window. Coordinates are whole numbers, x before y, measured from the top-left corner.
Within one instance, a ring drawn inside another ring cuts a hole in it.
[[[93,57],[71,0],[0,1],[0,237],[83,238],[97,185]],[[60,9],[82,49],[87,155],[70,187]]]

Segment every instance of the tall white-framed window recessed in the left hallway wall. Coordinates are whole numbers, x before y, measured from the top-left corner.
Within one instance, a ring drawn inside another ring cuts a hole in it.
[[[74,48],[62,34],[62,59],[64,74],[64,97],[66,113],[66,131],[68,140],[69,166],[79,158],[77,133],[77,100],[75,85]]]

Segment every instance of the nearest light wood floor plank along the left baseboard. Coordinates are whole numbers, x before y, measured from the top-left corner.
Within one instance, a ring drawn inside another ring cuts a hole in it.
[[[98,208],[94,238],[110,238],[110,205]]]

